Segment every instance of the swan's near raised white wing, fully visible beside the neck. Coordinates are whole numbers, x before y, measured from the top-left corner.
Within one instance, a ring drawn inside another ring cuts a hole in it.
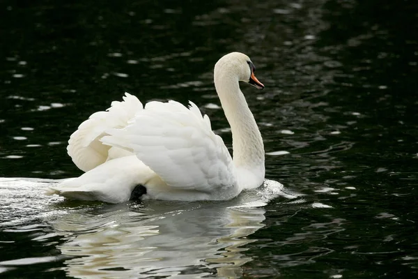
[[[128,126],[107,133],[104,144],[134,152],[168,186],[213,193],[236,185],[224,141],[192,102],[147,103]]]

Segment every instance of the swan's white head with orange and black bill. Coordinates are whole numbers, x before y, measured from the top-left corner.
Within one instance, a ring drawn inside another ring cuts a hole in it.
[[[254,75],[255,71],[256,67],[247,55],[241,52],[231,52],[222,56],[215,64],[215,80],[217,77],[229,75],[237,77],[240,82],[248,82],[256,89],[263,89],[264,85]]]

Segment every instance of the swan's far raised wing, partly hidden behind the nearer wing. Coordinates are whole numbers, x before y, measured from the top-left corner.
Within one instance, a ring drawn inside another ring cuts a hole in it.
[[[142,109],[143,105],[137,97],[125,93],[122,102],[114,101],[106,111],[91,114],[68,140],[68,155],[75,165],[87,172],[106,162],[111,146],[100,142],[107,135],[106,130],[127,126],[128,121]]]

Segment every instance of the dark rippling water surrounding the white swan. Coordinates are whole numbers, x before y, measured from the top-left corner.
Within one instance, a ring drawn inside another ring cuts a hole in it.
[[[6,1],[0,18],[0,176],[81,174],[68,137],[124,91],[193,100],[231,146],[212,68],[240,51],[266,86],[241,86],[266,178],[303,194],[110,206],[3,179],[2,278],[416,276],[414,1]]]

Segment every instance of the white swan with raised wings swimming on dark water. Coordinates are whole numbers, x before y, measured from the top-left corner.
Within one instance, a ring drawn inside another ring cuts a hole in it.
[[[264,181],[264,146],[239,81],[258,89],[249,57],[226,54],[215,65],[215,88],[233,136],[233,159],[207,115],[194,103],[141,102],[125,93],[84,121],[68,154],[84,174],[49,189],[71,199],[125,202],[132,197],[226,200]]]

